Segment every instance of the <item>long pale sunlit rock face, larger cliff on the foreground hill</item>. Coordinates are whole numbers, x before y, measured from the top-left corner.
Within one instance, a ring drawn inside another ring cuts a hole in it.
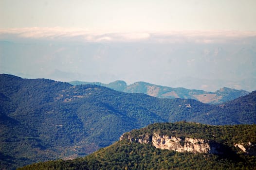
[[[154,133],[152,136],[144,135],[132,137],[124,134],[120,140],[129,140],[130,142],[152,143],[153,146],[160,149],[167,149],[176,152],[192,152],[192,153],[216,153],[219,154],[218,143],[196,138],[181,138],[176,136],[160,136]]]

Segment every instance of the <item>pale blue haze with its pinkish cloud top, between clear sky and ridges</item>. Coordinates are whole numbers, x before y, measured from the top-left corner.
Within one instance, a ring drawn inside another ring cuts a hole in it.
[[[256,32],[0,30],[0,72],[29,78],[252,91],[255,66]]]

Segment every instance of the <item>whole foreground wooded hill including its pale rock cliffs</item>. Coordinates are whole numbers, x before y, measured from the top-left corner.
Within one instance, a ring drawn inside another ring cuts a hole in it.
[[[256,125],[155,123],[84,158],[19,170],[255,170]]]

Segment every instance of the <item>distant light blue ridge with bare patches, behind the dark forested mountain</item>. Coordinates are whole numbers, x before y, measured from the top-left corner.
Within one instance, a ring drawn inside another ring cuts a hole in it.
[[[209,104],[219,104],[249,94],[249,92],[245,90],[236,90],[227,87],[220,88],[215,92],[207,92],[203,90],[190,90],[182,87],[172,88],[161,85],[153,85],[146,82],[136,82],[131,85],[127,85],[124,81],[115,81],[111,82],[110,84],[80,81],[73,81],[69,83],[72,85],[101,85],[117,91],[123,91],[128,93],[144,93],[149,96],[158,98],[195,99],[197,101]]]

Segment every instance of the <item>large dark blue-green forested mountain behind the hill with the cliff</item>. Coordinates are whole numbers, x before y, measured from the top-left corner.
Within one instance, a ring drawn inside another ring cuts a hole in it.
[[[155,122],[253,124],[256,91],[209,105],[0,74],[0,118],[0,166],[12,169],[81,157],[109,146],[125,132]]]

